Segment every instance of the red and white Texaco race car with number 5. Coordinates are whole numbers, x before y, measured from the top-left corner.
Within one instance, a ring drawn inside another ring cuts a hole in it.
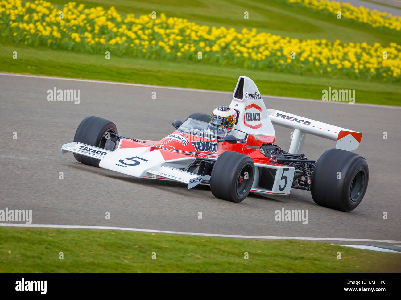
[[[294,130],[288,152],[274,144],[272,124]],[[188,189],[208,184],[215,197],[233,202],[249,193],[289,195],[291,189],[302,189],[318,205],[352,211],[365,195],[367,162],[350,152],[358,148],[362,133],[266,109],[248,77],[239,77],[229,107],[217,107],[211,115],[191,114],[172,125],[176,130],[159,141],[139,140],[119,136],[113,122],[87,117],[61,153],[73,152],[83,164],[135,177],[175,180]],[[336,148],[317,161],[307,159],[301,154],[306,134],[334,140]]]

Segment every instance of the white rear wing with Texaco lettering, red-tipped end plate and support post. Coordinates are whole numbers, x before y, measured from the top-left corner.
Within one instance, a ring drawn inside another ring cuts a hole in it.
[[[303,118],[284,111],[267,109],[267,114],[273,124],[294,129],[290,150],[288,151],[291,154],[301,153],[306,134],[336,141],[336,148],[347,151],[358,148],[362,138],[360,132]]]

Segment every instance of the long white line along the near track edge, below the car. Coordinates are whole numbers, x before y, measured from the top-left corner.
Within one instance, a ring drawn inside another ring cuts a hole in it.
[[[401,243],[401,241],[386,241],[380,239],[348,239],[348,238],[330,238],[330,237],[275,237],[275,236],[260,236],[260,235],[233,235],[233,234],[218,234],[218,233],[196,233],[182,232],[156,229],[138,229],[128,227],[113,227],[113,226],[92,226],[92,225],[52,225],[52,224],[12,224],[0,223],[2,227],[33,227],[33,228],[62,228],[62,229],[102,229],[102,230],[122,230],[122,231],[138,231],[150,233],[167,233],[178,235],[196,235],[207,237],[231,237],[236,239],[295,239],[308,241],[356,241],[356,242],[379,242],[379,243]]]

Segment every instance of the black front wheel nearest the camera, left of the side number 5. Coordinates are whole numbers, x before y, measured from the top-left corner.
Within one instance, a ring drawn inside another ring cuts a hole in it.
[[[217,198],[241,202],[251,191],[254,176],[255,164],[252,158],[238,152],[225,151],[213,166],[210,189]]]

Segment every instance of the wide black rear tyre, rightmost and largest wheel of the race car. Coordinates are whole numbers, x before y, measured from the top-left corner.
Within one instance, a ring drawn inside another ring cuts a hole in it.
[[[353,152],[329,149],[320,156],[312,173],[312,199],[318,205],[349,212],[362,201],[368,182],[365,158]]]

